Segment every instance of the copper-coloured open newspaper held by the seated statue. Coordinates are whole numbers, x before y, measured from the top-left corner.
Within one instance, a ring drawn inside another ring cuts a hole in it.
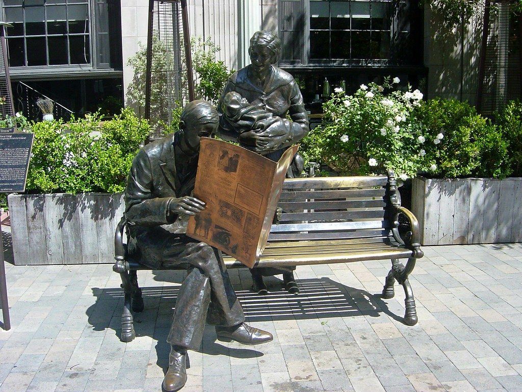
[[[279,162],[243,147],[201,138],[194,197],[205,210],[188,220],[187,235],[252,268],[263,252],[283,180],[299,146]]]

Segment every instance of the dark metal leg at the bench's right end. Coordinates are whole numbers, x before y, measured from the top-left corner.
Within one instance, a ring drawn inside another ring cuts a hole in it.
[[[388,276],[386,276],[386,283],[384,285],[382,297],[385,299],[393,298],[395,295],[394,292],[394,283],[397,280],[402,287],[404,288],[404,293],[406,294],[406,299],[404,300],[406,313],[404,316],[404,322],[406,325],[416,325],[417,324],[417,310],[415,308],[415,299],[413,298],[413,291],[411,290],[410,281],[408,280],[408,276],[413,271],[415,267],[415,258],[409,258],[406,263],[406,267],[398,262],[397,259],[392,260],[392,269],[388,272]]]

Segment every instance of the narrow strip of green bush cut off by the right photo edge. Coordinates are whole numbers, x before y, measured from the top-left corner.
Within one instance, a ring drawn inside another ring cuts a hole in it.
[[[509,143],[509,165],[513,176],[522,177],[522,102],[509,102],[496,123]]]

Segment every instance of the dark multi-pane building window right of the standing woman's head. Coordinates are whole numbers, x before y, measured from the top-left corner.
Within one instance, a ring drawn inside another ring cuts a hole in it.
[[[422,44],[416,40],[422,38],[422,14],[410,3],[280,0],[282,64],[419,63]]]

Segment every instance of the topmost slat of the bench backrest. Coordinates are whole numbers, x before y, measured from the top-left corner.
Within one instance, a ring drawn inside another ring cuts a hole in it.
[[[387,183],[386,176],[289,178],[284,180],[283,189],[383,187]]]

